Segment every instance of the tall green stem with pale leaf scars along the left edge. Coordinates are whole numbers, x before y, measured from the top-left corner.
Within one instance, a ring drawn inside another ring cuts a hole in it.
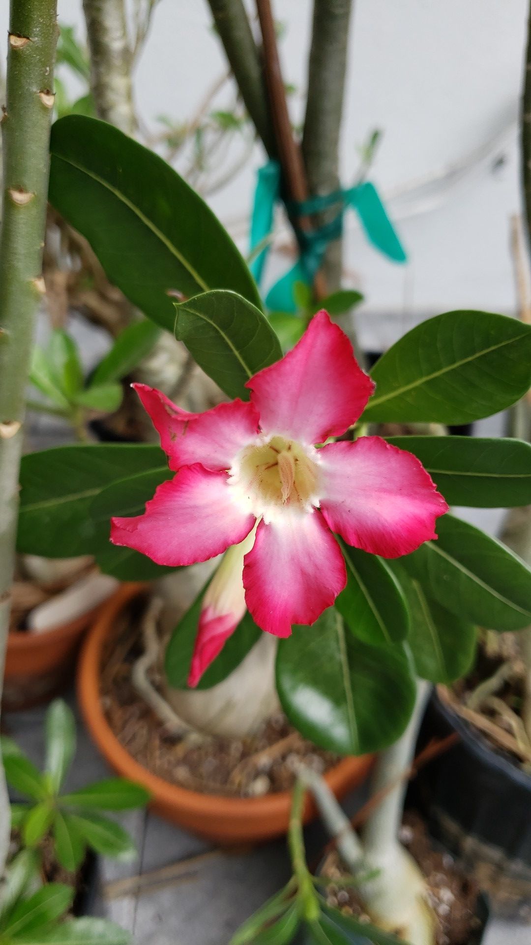
[[[9,630],[18,518],[25,388],[43,292],[48,141],[52,116],[56,0],[11,0],[7,106],[2,120],[4,201],[0,232],[0,670]],[[0,677],[1,679],[1,677]],[[1,684],[0,684],[1,696]],[[0,797],[5,801],[4,787]],[[9,813],[0,806],[0,876]]]

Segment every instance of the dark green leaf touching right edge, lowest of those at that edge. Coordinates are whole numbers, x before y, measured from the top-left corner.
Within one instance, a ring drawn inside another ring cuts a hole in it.
[[[437,521],[437,541],[401,558],[424,592],[457,617],[495,630],[531,623],[531,571],[501,543],[453,515]]]

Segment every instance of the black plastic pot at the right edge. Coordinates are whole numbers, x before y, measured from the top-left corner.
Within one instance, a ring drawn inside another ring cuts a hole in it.
[[[494,751],[432,696],[419,748],[453,732],[457,744],[420,769],[414,795],[430,832],[488,893],[493,909],[531,921],[531,776]]]

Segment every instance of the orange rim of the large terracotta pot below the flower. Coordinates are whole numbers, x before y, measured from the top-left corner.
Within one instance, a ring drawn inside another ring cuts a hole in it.
[[[263,798],[227,798],[218,794],[202,794],[177,784],[164,781],[141,765],[128,750],[121,745],[103,713],[99,694],[99,664],[103,644],[111,626],[129,600],[146,590],[146,584],[125,583],[101,608],[94,626],[89,629],[82,645],[77,667],[77,699],[81,714],[96,746],[103,756],[131,781],[144,784],[151,794],[151,800],[162,802],[171,807],[179,807],[197,815],[209,810],[219,816],[248,817],[249,815],[281,815],[291,805],[291,792],[278,791]],[[325,774],[325,780],[334,790],[346,780],[354,769],[368,768],[370,756],[359,755],[343,758]]]

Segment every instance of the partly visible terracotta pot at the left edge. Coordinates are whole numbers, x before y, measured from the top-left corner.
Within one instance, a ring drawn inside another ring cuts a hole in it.
[[[99,606],[68,624],[43,633],[14,631],[8,636],[2,708],[30,709],[57,696],[72,679],[82,636]]]

